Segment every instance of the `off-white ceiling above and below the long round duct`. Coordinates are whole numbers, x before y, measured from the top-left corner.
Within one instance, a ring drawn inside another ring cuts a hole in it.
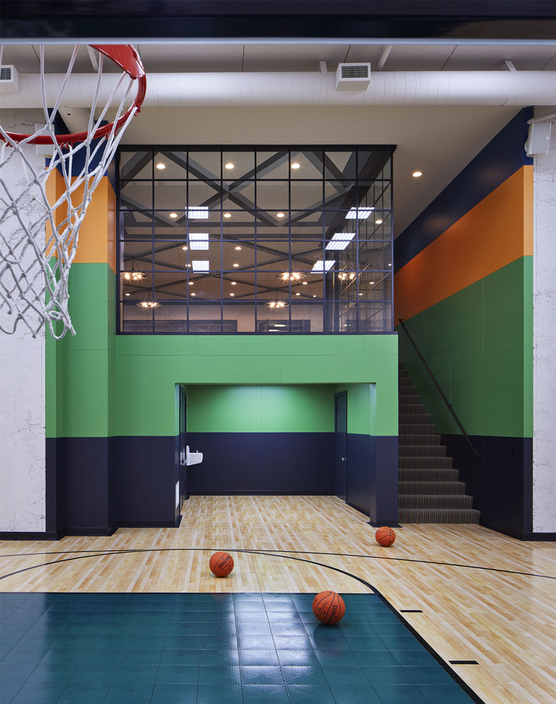
[[[376,43],[139,43],[147,73],[328,71],[338,63],[370,62]],[[46,46],[48,71],[65,71],[72,46]],[[556,43],[395,43],[384,71],[556,70]],[[6,44],[2,64],[38,73],[38,46]],[[74,72],[90,73],[80,47]],[[148,90],[148,89],[147,89]],[[1,99],[0,99],[1,107]],[[127,144],[396,144],[395,234],[520,110],[518,107],[225,107],[144,108],[124,137]],[[1,123],[1,111],[0,111]],[[419,169],[422,178],[412,178]]]

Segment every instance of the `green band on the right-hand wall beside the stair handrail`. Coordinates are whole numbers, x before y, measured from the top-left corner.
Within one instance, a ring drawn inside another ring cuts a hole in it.
[[[408,321],[469,434],[533,437],[533,258],[521,257]],[[437,430],[459,433],[404,332],[407,366]]]

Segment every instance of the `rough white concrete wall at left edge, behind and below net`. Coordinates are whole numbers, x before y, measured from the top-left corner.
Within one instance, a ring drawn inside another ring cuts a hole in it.
[[[9,132],[33,132],[41,110],[0,110]],[[44,163],[29,147],[29,159]],[[1,177],[9,188],[24,178],[21,164]],[[4,235],[10,223],[4,223]],[[33,339],[18,324],[12,335],[0,331],[0,530],[46,530],[45,334]]]

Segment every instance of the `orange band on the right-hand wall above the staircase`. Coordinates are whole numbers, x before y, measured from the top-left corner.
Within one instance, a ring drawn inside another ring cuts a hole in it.
[[[395,320],[533,255],[533,166],[501,183],[394,276]]]

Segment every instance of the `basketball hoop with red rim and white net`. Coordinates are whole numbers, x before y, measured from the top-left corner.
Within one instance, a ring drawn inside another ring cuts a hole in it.
[[[54,101],[47,97],[44,46],[41,46],[46,124],[38,125],[33,134],[6,132],[0,126],[0,330],[7,334],[13,334],[23,321],[33,337],[47,322],[56,339],[68,330],[75,335],[68,313],[68,274],[77,249],[79,228],[92,193],[112,161],[125,129],[141,110],[146,91],[144,68],[133,46],[92,45],[92,48],[99,52],[98,70],[85,132],[56,134],[54,127],[58,108],[64,105],[65,89],[79,46],[73,50]],[[102,107],[99,93],[104,57],[119,66],[122,75]],[[133,97],[135,81],[137,92]],[[114,110],[114,119],[106,124],[107,114]],[[31,162],[33,144],[52,147],[46,168],[43,163],[37,166]],[[64,192],[49,202],[46,182],[55,169],[63,177]]]

